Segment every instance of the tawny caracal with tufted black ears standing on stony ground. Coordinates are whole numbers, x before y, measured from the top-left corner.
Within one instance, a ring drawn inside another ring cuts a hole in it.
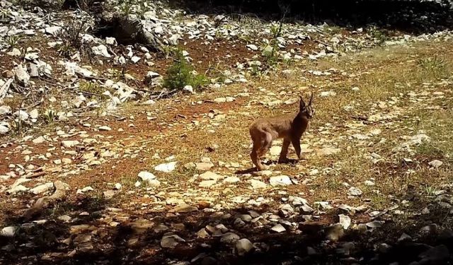
[[[311,94],[309,105],[306,105],[302,97],[300,97],[299,112],[279,117],[261,118],[251,124],[249,131],[253,141],[253,148],[250,157],[258,171],[265,169],[260,158],[269,151],[275,139],[283,139],[282,151],[280,152],[278,163],[287,162],[290,143],[294,146],[297,158],[302,158],[300,138],[309,125],[309,119],[313,117],[314,109],[311,107],[312,102],[313,93]]]

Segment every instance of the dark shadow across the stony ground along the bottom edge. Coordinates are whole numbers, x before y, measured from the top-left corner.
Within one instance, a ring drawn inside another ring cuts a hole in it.
[[[276,198],[277,199],[277,198]],[[413,208],[403,211],[420,211],[426,205],[418,196],[411,199]],[[73,203],[61,203],[55,210],[48,210],[40,218],[49,218],[47,223],[23,225],[14,238],[0,237],[1,264],[168,264],[169,261],[192,261],[190,264],[452,264],[453,232],[452,218],[448,211],[437,204],[431,204],[430,214],[412,216],[411,225],[402,226],[394,222],[394,217],[382,216],[386,222],[382,228],[359,232],[346,230],[338,242],[326,241],[331,223],[338,222],[338,214],[345,213],[336,209],[321,215],[319,220],[305,220],[303,213],[293,216],[280,216],[282,220],[297,223],[299,233],[276,233],[266,227],[253,227],[251,223],[238,226],[236,218],[249,211],[275,212],[275,208],[236,208],[214,215],[205,211],[190,213],[145,213],[130,216],[129,220],[117,227],[103,223],[102,216],[108,211],[109,201],[95,198],[79,199]],[[57,212],[55,212],[57,211]],[[69,225],[55,219],[65,211],[72,213],[88,212],[89,215],[72,215]],[[302,211],[302,210],[301,210]],[[15,213],[11,213],[11,223],[16,223]],[[18,214],[18,213],[16,213]],[[276,213],[275,214],[279,214]],[[347,214],[347,213],[346,213]],[[447,216],[446,216],[447,214]],[[50,216],[53,216],[51,218]],[[352,220],[364,217],[351,216]],[[365,217],[368,218],[368,217]],[[137,220],[151,220],[150,229],[137,225]],[[366,221],[365,221],[366,222]],[[437,225],[432,225],[436,223]],[[16,223],[17,224],[17,223]],[[63,240],[76,235],[69,233],[71,225],[93,225],[92,240],[88,245],[93,248],[82,250],[86,243],[64,243]],[[168,231],[154,231],[156,225],[168,226]],[[196,232],[206,225],[223,224],[241,238],[255,243],[256,249],[241,257],[233,253],[233,245],[220,242],[220,237],[198,238]],[[283,225],[290,230],[289,226]],[[425,225],[432,230],[420,232]],[[442,225],[442,228],[440,227]],[[173,249],[161,248],[161,238],[166,232],[174,232],[185,239]],[[398,242],[403,232],[413,236],[413,240]],[[382,247],[382,243],[388,247]],[[312,249],[310,249],[312,248]],[[74,251],[75,250],[75,251]],[[316,252],[314,253],[313,252]],[[71,253],[71,257],[68,257]],[[204,256],[198,256],[204,253]],[[27,259],[22,259],[28,257]],[[200,257],[195,259],[195,257]],[[423,261],[423,257],[425,261]],[[420,262],[421,261],[421,262]]]

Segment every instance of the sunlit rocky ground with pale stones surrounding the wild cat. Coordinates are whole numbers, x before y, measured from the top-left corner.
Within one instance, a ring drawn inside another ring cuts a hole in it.
[[[117,5],[153,52],[0,8],[0,264],[451,261],[451,32]],[[202,88],[164,86],[175,47]],[[248,125],[311,92],[306,159],[255,172]]]

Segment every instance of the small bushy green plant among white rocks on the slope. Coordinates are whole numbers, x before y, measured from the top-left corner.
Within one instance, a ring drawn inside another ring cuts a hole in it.
[[[207,83],[209,81],[206,76],[195,73],[180,51],[173,59],[173,64],[168,67],[164,78],[164,86],[172,90],[180,90],[185,86],[192,86],[196,90],[206,86]]]

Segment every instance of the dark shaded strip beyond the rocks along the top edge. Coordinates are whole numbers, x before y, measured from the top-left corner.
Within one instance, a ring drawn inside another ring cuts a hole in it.
[[[377,25],[408,33],[431,33],[452,28],[448,0],[169,0],[189,13],[247,14],[264,20],[302,20],[354,28]]]

